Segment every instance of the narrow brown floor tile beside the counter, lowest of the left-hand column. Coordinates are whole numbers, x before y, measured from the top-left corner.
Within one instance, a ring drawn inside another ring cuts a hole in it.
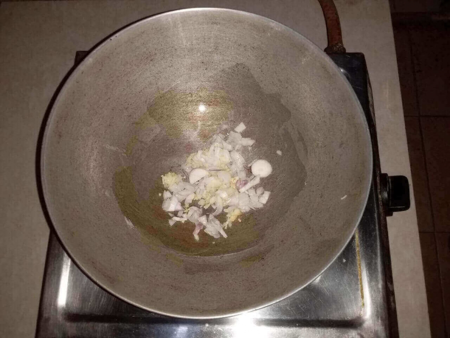
[[[433,338],[445,338],[445,316],[442,306],[442,289],[440,287],[439,263],[434,233],[420,233],[420,247],[422,250],[431,336]]]

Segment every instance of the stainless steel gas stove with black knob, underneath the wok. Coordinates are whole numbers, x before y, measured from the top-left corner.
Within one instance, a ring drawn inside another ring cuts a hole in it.
[[[75,66],[86,55],[77,52]],[[386,214],[409,206],[407,179],[381,174],[364,56],[330,54],[355,91],[370,129],[373,179],[357,230],[312,283],[241,315],[172,318],[137,308],[86,277],[50,233],[36,337],[395,337],[398,336]]]

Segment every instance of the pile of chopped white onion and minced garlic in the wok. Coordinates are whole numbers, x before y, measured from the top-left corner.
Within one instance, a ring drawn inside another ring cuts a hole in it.
[[[196,241],[202,229],[214,238],[226,238],[223,229],[232,226],[235,220],[240,222],[242,213],[264,206],[270,192],[261,186],[253,187],[271,173],[272,167],[265,160],[255,160],[250,163],[253,175],[247,177],[248,167],[239,150],[242,146],[250,147],[254,140],[240,135],[245,129],[240,123],[228,137],[214,135],[208,148],[187,157],[181,166],[186,175],[172,172],[162,175],[166,189],[162,193],[162,209],[171,217],[170,226],[177,221],[195,224],[192,235]],[[222,212],[226,213],[223,224],[214,217]]]

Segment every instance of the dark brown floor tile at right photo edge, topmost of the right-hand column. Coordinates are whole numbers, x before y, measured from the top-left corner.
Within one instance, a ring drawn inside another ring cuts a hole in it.
[[[450,27],[409,30],[420,115],[450,116]]]

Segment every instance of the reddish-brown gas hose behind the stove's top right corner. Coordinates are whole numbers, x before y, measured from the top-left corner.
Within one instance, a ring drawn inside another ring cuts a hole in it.
[[[339,16],[333,0],[318,0],[318,2],[325,17],[326,35],[328,38],[328,46],[325,48],[325,53],[345,53]]]

